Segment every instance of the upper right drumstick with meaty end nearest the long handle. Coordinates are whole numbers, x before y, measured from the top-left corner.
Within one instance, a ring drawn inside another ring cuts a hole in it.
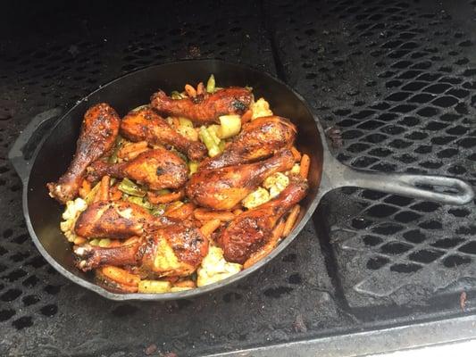
[[[296,126],[288,119],[278,116],[258,118],[245,124],[223,153],[201,162],[199,170],[263,159],[283,147],[291,147],[295,138]]]

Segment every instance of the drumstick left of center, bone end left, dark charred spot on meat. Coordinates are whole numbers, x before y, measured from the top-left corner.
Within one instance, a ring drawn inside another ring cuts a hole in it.
[[[104,175],[133,179],[153,190],[174,189],[185,185],[188,167],[179,155],[158,147],[138,154],[129,162],[108,164],[97,161],[88,169],[88,179],[96,180]]]

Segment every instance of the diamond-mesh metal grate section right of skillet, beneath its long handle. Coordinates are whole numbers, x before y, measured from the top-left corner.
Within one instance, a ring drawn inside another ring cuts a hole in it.
[[[330,3],[282,4],[276,19],[288,18],[284,28],[292,30],[278,30],[276,38],[288,63],[302,62],[300,68],[284,63],[288,80],[342,131],[338,159],[356,168],[452,175],[476,184],[472,38],[430,2]],[[330,240],[351,306],[425,304],[474,286],[474,204],[456,208],[369,190],[342,192],[356,208],[331,225]]]

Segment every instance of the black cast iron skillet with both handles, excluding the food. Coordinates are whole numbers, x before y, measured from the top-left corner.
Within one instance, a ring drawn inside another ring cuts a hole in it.
[[[296,145],[311,157],[310,190],[301,203],[300,221],[292,233],[262,261],[218,283],[162,295],[113,294],[97,286],[91,274],[82,273],[74,267],[71,244],[59,229],[63,206],[47,195],[46,182],[58,179],[71,162],[81,120],[89,106],[106,102],[123,116],[130,109],[149,103],[150,95],[158,88],[171,92],[186,83],[196,84],[205,80],[211,73],[221,87],[253,87],[255,96],[265,97],[275,114],[290,118],[296,124]],[[460,179],[355,170],[341,164],[330,154],[322,126],[301,95],[263,71],[236,63],[218,60],[172,62],[115,79],[88,95],[57,120],[35,154],[25,159],[21,152],[23,146],[46,120],[57,116],[57,110],[38,115],[21,133],[9,154],[23,183],[23,214],[29,234],[47,262],[71,281],[112,300],[180,299],[211,292],[245,278],[280,254],[305,226],[322,196],[337,187],[364,187],[450,204],[468,203],[474,195],[472,188]]]

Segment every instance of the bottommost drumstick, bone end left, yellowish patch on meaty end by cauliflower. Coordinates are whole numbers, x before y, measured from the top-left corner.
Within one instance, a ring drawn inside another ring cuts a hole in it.
[[[190,220],[147,228],[143,238],[130,245],[101,248],[75,246],[79,269],[103,265],[137,265],[141,276],[160,278],[188,276],[208,253],[208,240]]]

